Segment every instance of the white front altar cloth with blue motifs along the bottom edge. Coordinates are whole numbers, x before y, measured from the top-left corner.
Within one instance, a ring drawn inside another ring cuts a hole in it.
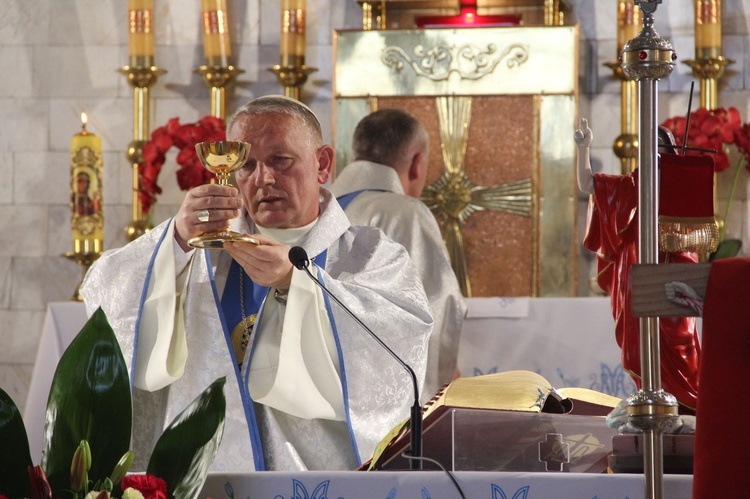
[[[639,499],[645,496],[640,474],[454,473],[467,498],[479,499]],[[665,475],[663,499],[692,494],[691,475]],[[266,471],[248,475],[210,475],[200,497],[228,499],[453,499],[460,498],[440,471],[304,472]]]

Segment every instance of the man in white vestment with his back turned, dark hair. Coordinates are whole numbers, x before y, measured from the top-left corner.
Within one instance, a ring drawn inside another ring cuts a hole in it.
[[[354,225],[378,227],[402,244],[417,267],[435,321],[424,393],[434,395],[458,376],[458,345],[466,302],[451,268],[440,227],[419,200],[430,142],[424,126],[400,109],[380,109],[354,130],[352,156],[331,193]]]

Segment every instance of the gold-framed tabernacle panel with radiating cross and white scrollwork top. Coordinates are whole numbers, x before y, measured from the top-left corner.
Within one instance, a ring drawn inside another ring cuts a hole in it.
[[[422,200],[466,296],[575,296],[578,28],[337,31],[336,168],[368,113],[430,135]]]

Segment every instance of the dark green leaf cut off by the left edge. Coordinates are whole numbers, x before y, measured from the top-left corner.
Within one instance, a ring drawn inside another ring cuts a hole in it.
[[[0,388],[0,495],[31,497],[27,468],[33,466],[21,413]]]

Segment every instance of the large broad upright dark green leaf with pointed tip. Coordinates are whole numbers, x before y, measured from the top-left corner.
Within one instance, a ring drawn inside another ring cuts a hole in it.
[[[125,360],[99,308],[65,350],[47,401],[42,468],[52,490],[70,487],[81,440],[91,447],[93,480],[109,475],[130,448],[133,408]]]

